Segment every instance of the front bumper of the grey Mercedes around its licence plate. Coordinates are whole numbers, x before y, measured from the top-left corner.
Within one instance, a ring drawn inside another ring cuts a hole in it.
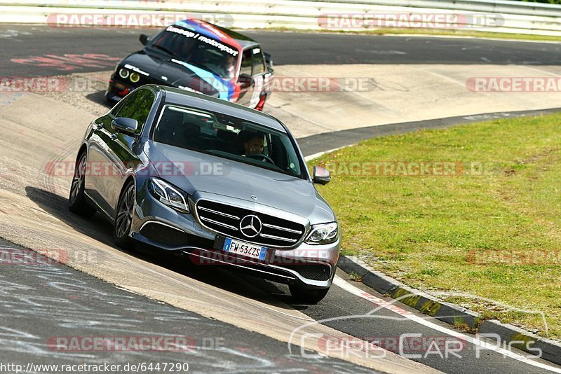
[[[191,205],[191,212],[192,209]],[[198,265],[230,266],[275,282],[309,289],[325,289],[332,284],[340,238],[325,245],[299,242],[288,249],[271,247],[273,256],[259,261],[215,248],[217,235],[201,226],[194,214],[177,212],[158,202],[151,193],[137,193],[130,236],[138,242],[165,251],[180,251]]]

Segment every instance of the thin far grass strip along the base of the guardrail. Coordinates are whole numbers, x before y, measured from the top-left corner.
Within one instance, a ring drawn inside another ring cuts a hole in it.
[[[506,32],[478,32],[468,30],[455,30],[455,29],[364,29],[364,30],[311,30],[311,29],[292,29],[290,27],[271,27],[266,29],[254,29],[258,31],[276,31],[276,32],[302,32],[302,33],[332,33],[332,34],[365,34],[365,35],[399,35],[399,34],[414,34],[426,36],[464,36],[473,38],[485,39],[513,39],[513,40],[527,40],[527,41],[561,41],[561,36],[546,36],[534,34],[509,34]],[[240,32],[243,32],[240,29]]]

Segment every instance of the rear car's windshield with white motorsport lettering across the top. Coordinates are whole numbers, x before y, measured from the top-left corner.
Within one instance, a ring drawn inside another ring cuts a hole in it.
[[[239,53],[222,41],[177,26],[169,26],[148,44],[178,59],[231,80],[236,74]]]

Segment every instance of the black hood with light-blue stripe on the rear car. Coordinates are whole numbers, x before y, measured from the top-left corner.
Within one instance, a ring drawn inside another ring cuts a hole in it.
[[[141,50],[121,61],[122,66],[127,64],[148,74],[149,83],[195,90],[221,99],[234,95],[234,84],[230,81],[169,55]]]

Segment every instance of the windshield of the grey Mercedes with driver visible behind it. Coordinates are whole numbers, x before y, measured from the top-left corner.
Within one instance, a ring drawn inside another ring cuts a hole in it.
[[[303,178],[288,134],[221,113],[166,105],[153,139]]]

